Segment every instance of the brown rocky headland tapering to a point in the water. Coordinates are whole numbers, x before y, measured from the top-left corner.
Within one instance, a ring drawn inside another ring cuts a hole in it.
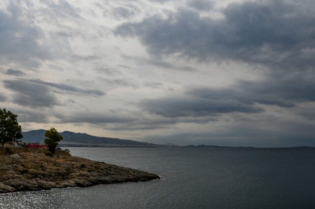
[[[97,184],[145,182],[158,175],[73,157],[66,151],[6,148],[0,151],[0,193],[36,191]]]

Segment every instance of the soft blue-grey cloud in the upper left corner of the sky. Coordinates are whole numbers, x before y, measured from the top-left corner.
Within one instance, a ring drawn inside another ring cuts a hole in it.
[[[50,56],[37,42],[43,36],[42,31],[20,18],[22,11],[14,3],[6,9],[6,12],[0,10],[0,60],[38,66],[37,59]]]

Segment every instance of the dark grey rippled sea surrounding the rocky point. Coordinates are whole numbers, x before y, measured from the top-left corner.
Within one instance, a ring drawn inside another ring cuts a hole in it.
[[[0,195],[2,209],[315,209],[315,150],[70,148],[163,177]]]

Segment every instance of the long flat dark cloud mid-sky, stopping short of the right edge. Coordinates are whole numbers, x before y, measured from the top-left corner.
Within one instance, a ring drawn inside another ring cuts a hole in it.
[[[263,109],[237,101],[212,100],[203,98],[160,98],[144,100],[140,106],[164,117],[204,117],[223,113],[258,113]]]

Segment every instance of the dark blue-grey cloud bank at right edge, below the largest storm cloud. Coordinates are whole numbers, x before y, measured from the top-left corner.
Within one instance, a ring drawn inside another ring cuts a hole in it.
[[[315,101],[315,75],[291,74],[277,79],[241,81],[229,88],[194,88],[187,93],[206,99],[237,101],[243,104],[293,107],[299,102]]]

